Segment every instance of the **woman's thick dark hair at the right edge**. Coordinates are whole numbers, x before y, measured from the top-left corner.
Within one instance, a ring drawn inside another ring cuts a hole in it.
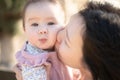
[[[120,80],[120,9],[89,2],[79,13],[86,24],[83,56],[93,80]]]

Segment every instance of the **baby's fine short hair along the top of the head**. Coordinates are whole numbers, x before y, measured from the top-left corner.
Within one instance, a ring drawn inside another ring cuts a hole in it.
[[[23,16],[23,28],[25,28],[25,12],[26,12],[27,7],[30,4],[34,4],[34,3],[37,3],[37,2],[50,2],[50,3],[53,3],[53,4],[59,4],[60,7],[62,8],[62,10],[64,11],[64,15],[66,17],[66,10],[65,10],[65,2],[64,2],[64,0],[27,0],[27,2],[25,4],[25,7],[23,9],[23,14],[22,14],[22,16]]]

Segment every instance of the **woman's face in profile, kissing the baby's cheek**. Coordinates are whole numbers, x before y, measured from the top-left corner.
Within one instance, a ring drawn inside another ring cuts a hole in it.
[[[56,47],[60,60],[73,68],[80,68],[82,60],[82,35],[84,32],[83,18],[75,14],[66,28],[58,33]]]

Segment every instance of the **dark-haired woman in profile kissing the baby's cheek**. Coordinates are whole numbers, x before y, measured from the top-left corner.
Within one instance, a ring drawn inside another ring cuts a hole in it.
[[[120,9],[88,3],[60,31],[60,60],[79,68],[80,80],[120,80]]]

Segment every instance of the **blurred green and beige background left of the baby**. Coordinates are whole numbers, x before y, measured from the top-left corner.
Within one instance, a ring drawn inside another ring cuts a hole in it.
[[[26,0],[0,0],[0,80],[16,80],[12,72],[13,38]],[[17,45],[16,45],[17,47]]]

